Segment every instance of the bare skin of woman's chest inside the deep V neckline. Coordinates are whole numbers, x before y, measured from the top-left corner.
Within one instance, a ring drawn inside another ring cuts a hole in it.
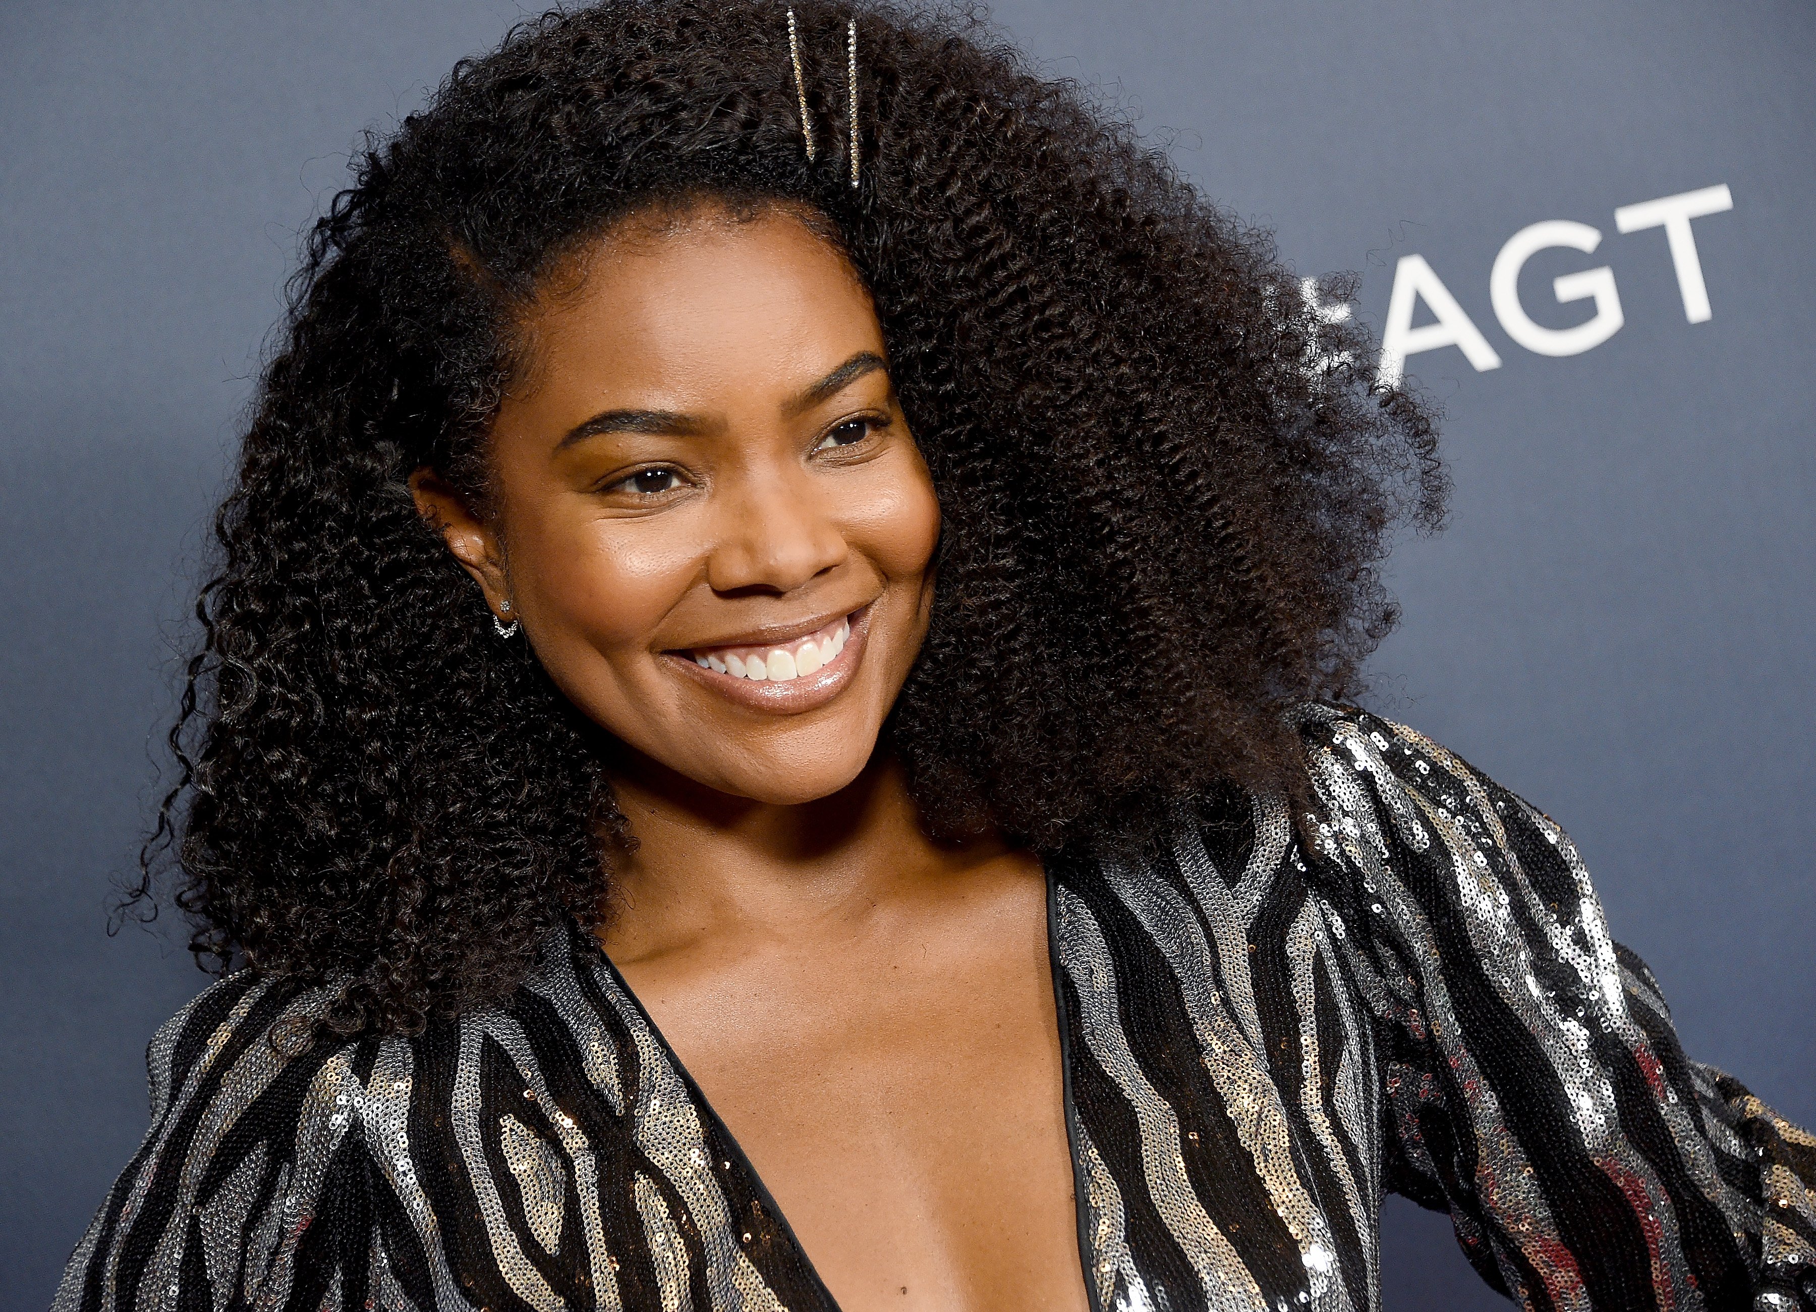
[[[1086,1308],[1044,890],[632,985],[846,1312]],[[1012,898],[1013,901],[1015,898]]]

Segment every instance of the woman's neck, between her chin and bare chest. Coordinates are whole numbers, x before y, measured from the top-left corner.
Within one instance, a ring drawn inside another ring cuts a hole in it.
[[[839,934],[1001,856],[935,843],[901,763],[877,754],[839,792],[801,805],[732,798],[639,761],[614,774],[637,845],[612,861],[599,938],[619,961],[706,943]]]

